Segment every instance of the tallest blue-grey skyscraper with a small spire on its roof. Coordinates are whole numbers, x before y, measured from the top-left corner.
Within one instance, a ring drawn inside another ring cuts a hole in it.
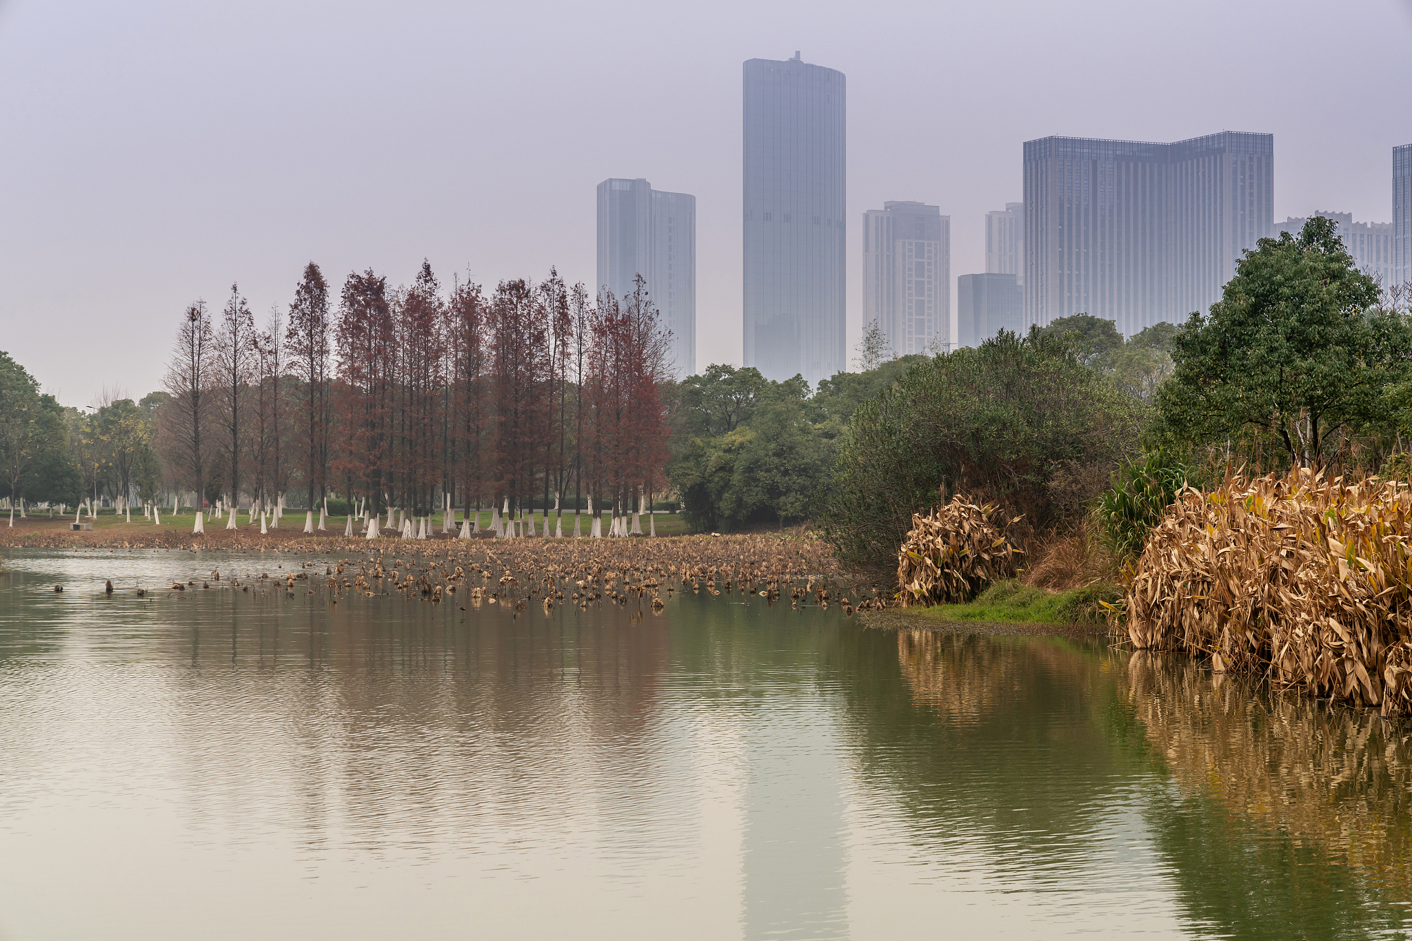
[[[842,72],[744,63],[744,354],[771,380],[846,368]]]

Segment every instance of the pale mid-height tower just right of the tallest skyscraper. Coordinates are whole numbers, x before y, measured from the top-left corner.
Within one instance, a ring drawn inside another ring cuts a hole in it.
[[[897,356],[952,343],[952,217],[885,202],[863,213],[863,323],[878,322]]]

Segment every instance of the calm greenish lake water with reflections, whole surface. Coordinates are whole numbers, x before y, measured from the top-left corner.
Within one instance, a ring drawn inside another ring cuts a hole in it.
[[[1372,715],[724,594],[229,588],[306,560],[0,556],[0,938],[1406,934]]]

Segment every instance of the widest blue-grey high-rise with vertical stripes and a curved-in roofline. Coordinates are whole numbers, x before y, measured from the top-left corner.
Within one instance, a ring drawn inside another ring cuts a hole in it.
[[[1275,140],[1046,137],[1025,142],[1024,176],[1027,323],[1091,313],[1132,336],[1204,312],[1269,236]]]

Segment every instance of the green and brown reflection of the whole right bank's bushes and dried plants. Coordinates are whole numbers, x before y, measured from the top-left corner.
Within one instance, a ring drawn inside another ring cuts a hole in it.
[[[1099,828],[1120,782],[1139,782],[1193,930],[1372,937],[1406,924],[1406,727],[1101,642],[901,631],[897,657],[907,701],[867,696],[885,712],[870,722],[871,773],[914,796],[919,842],[966,828],[1012,878],[1062,882],[1055,863]],[[895,748],[898,735],[933,748]]]

